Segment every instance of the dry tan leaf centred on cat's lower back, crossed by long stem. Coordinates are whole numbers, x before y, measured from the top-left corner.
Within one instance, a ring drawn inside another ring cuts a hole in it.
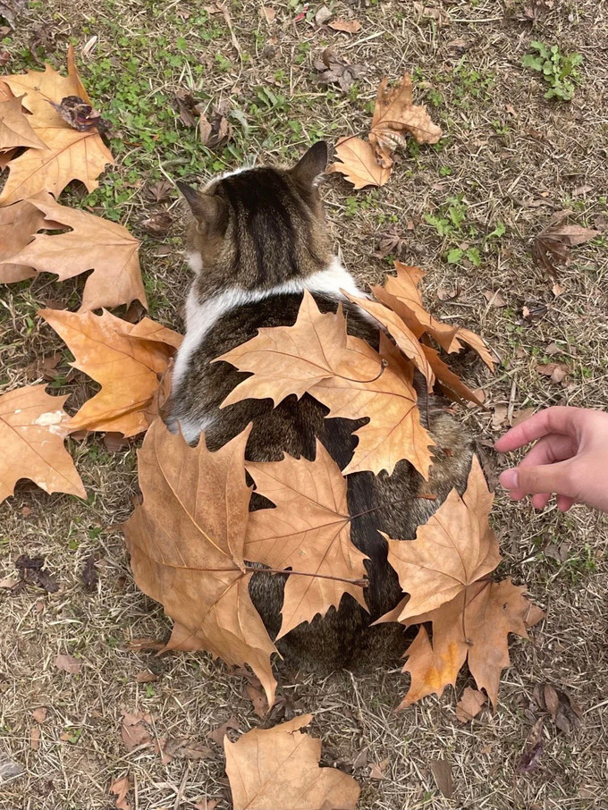
[[[367,610],[361,586],[348,581],[366,576],[366,557],[350,542],[346,480],[323,444],[317,440],[314,461],[285,455],[246,466],[256,492],[276,508],[251,513],[245,557],[274,570],[298,571],[285,584],[277,638],[317,613],[325,616],[344,594]]]

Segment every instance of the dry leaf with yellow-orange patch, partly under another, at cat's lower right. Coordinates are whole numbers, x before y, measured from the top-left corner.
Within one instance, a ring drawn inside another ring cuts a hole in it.
[[[408,626],[432,622],[433,642],[421,627],[406,650],[408,662],[403,671],[410,672],[411,684],[399,709],[434,692],[441,696],[448,684],[455,684],[466,660],[477,688],[486,689],[496,705],[501,671],[510,663],[509,633],[528,638],[525,591],[525,587],[514,586],[511,579],[480,579],[452,602],[407,620]]]

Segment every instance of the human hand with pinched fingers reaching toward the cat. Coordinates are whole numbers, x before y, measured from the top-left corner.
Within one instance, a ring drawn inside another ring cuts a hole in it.
[[[532,494],[532,505],[544,509],[555,493],[563,512],[577,502],[608,512],[608,413],[547,408],[511,427],[494,447],[509,452],[536,439],[518,467],[501,473],[511,500]]]

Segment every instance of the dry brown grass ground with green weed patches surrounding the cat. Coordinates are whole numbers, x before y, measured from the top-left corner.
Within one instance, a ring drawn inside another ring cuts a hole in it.
[[[116,114],[125,144],[119,167],[108,175],[106,191],[92,202],[138,235],[141,222],[157,209],[145,193],[148,180],[163,173],[214,171],[237,158],[201,150],[198,164],[190,158],[176,162],[183,144],[173,146],[166,133],[177,131],[190,143],[196,143],[196,134],[183,131],[173,119],[159,129],[157,148],[154,143],[151,151],[142,148],[143,136],[138,133],[146,122],[129,117],[132,102],[120,95],[129,83],[124,64],[130,47],[139,52],[135,75],[148,83],[151,99],[155,92],[170,97],[193,76],[196,88],[214,102],[222,97],[247,110],[249,133],[238,131],[238,145],[243,154],[262,159],[295,156],[317,135],[334,139],[365,131],[366,104],[375,96],[378,80],[384,74],[396,78],[406,68],[416,69],[418,97],[435,103],[435,118],[447,136],[443,149],[425,148],[418,155],[404,156],[381,190],[355,194],[338,176],[331,177],[324,195],[347,266],[361,280],[378,280],[389,265],[386,259],[373,257],[377,234],[396,228],[405,238],[404,260],[427,270],[427,300],[436,312],[476,329],[493,346],[502,361],[494,378],[477,365],[466,366],[464,372],[486,391],[489,409],[463,414],[478,439],[492,440],[496,435],[492,426],[496,406],[515,411],[558,402],[606,407],[605,244],[576,250],[571,266],[561,273],[563,291],[558,297],[552,282],[532,266],[529,252],[531,237],[553,211],[571,207],[577,222],[591,225],[606,215],[605,4],[555,3],[545,20],[532,27],[518,19],[525,5],[519,0],[508,7],[497,0],[456,0],[444,4],[450,24],[437,26],[420,18],[411,4],[387,0],[355,7],[363,30],[347,38],[306,23],[294,24],[296,11],[286,10],[285,4],[275,4],[277,21],[267,25],[260,19],[260,6],[245,0],[232,4],[234,31],[243,54],[249,55],[242,60],[221,16],[206,23],[207,30],[217,29],[216,38],[207,41],[202,29],[193,28],[200,13],[193,0],[179,4],[47,0],[44,8],[39,5],[23,18],[9,50],[20,67],[21,49],[36,31],[39,36],[47,30],[52,38],[46,44],[51,58],[64,53],[68,38],[82,45],[92,33],[98,35],[83,77],[95,95],[95,88],[102,87],[102,74],[109,75],[96,100]],[[427,5],[439,8],[434,0]],[[348,15],[350,6],[338,2],[334,12]],[[120,42],[119,30],[126,45]],[[158,53],[164,46],[158,43],[163,36],[169,40],[166,49],[182,59],[160,70]],[[185,46],[178,37],[186,39]],[[584,56],[582,83],[570,104],[545,102],[545,89],[536,74],[519,66],[535,38],[557,43],[564,53],[576,50]],[[327,93],[317,83],[312,58],[329,43],[351,62],[367,64],[358,92],[350,97]],[[114,59],[109,73],[98,68],[102,58]],[[197,64],[204,66],[200,79],[192,73]],[[120,92],[115,89],[119,84]],[[282,94],[283,107],[251,113],[259,87]],[[150,115],[156,112],[151,109]],[[441,212],[449,198],[460,194],[468,205],[467,230],[473,230],[442,240],[424,215],[436,213],[435,209]],[[174,213],[178,210],[173,208]],[[499,221],[506,229],[502,238],[484,240]],[[153,311],[178,327],[188,283],[179,234],[176,221],[164,239],[146,237],[143,250]],[[445,262],[446,250],[462,243],[480,248],[481,266]],[[440,302],[435,291],[441,288],[458,289],[460,294]],[[27,364],[59,348],[50,331],[36,321],[36,308],[48,298],[70,300],[77,289],[79,283],[59,286],[46,277],[3,291],[6,388],[31,382],[32,375],[24,372]],[[488,305],[483,295],[487,290],[500,291],[507,306]],[[522,309],[537,304],[545,305],[546,314],[528,325]],[[553,358],[546,355],[551,343],[560,349]],[[536,371],[538,363],[551,359],[570,366],[565,388]],[[78,376],[65,390],[75,392],[77,402],[85,388],[84,378]],[[152,713],[159,738],[205,740],[232,714],[242,730],[257,725],[258,718],[243,697],[242,677],[206,655],[157,659],[152,653],[128,649],[132,638],[167,633],[162,611],[134,586],[115,529],[131,510],[135,451],[108,453],[96,439],[72,442],[72,451],[89,492],[88,503],[49,497],[23,485],[1,508],[0,578],[13,571],[21,553],[39,554],[61,587],[54,595],[34,587],[13,596],[0,590],[0,755],[10,755],[25,769],[21,779],[2,786],[0,807],[108,808],[113,804],[108,796],[111,780],[129,772],[138,810],[186,810],[203,796],[219,799],[218,808],[226,808],[229,794],[219,748],[214,747],[214,756],[207,760],[176,758],[165,765],[149,751],[127,754],[122,747],[122,710]],[[505,463],[492,451],[487,456],[491,471]],[[315,715],[312,730],[323,738],[324,764],[337,764],[359,780],[361,808],[608,807],[606,521],[580,507],[566,516],[554,509],[537,514],[499,494],[494,524],[505,556],[504,573],[527,583],[547,611],[546,620],[532,631],[531,642],[516,640],[511,645],[512,666],[504,673],[501,705],[494,714],[485,711],[472,726],[462,727],[455,720],[455,698],[449,689],[441,700],[427,698],[395,714],[408,680],[399,671],[338,672],[322,682],[283,674],[281,693],[291,697],[296,711]],[[543,553],[549,543],[564,544],[564,561]],[[99,572],[92,594],[80,580],[90,553]],[[59,653],[82,658],[80,675],[55,668]],[[154,672],[157,680],[136,682],[140,671]],[[530,696],[536,683],[544,680],[578,701],[584,725],[578,735],[568,736],[549,723],[539,770],[516,775],[534,721],[528,710]],[[459,694],[467,682],[461,678]],[[40,727],[39,747],[32,750],[30,731],[36,723],[31,712],[38,706],[46,706],[48,713]],[[62,740],[66,732],[72,741]],[[364,749],[367,765],[353,770],[355,757]],[[428,767],[430,759],[443,756],[452,760],[452,800],[441,797]],[[370,779],[369,765],[384,761],[384,779]]]

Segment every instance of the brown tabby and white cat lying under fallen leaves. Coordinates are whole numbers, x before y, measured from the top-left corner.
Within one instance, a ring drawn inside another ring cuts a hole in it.
[[[288,169],[261,166],[226,173],[200,192],[178,183],[190,207],[186,245],[194,281],[166,421],[173,431],[179,425],[189,443],[197,443],[204,431],[213,451],[252,422],[248,460],[280,460],[284,453],[312,460],[318,438],[341,469],[350,461],[357,443],[352,434],[365,419],[325,418],[327,409],[308,394],[299,401],[290,396],[276,408],[266,399],[220,410],[220,403],[246,375],[228,363],[210,362],[255,337],[260,327],[294,324],[305,290],[322,312],[335,312],[342,303],[349,333],[377,348],[377,325],[341,293],[365,296],[334,255],[317,188],[326,162],[327,146],[320,141]],[[426,381],[417,382],[420,396],[425,396]],[[452,487],[464,490],[472,458],[462,427],[435,407],[434,397],[428,397],[426,405],[420,413],[423,420],[430,415],[426,427],[437,444],[430,473],[437,499],[413,497],[423,479],[407,460],[397,464],[392,476],[358,472],[346,478],[350,515],[367,512],[352,520],[351,540],[369,558],[368,612],[344,595],[337,610],[330,608],[325,617],[317,615],[280,639],[277,646],[288,663],[332,671],[350,666],[364,651],[372,650],[376,659],[375,637],[383,637],[378,644],[384,646],[386,638],[394,637],[387,626],[368,629],[402,598],[378,529],[404,541],[413,539]],[[251,510],[270,505],[252,495]],[[249,594],[271,637],[281,625],[284,582],[283,575],[263,571],[250,580]]]

